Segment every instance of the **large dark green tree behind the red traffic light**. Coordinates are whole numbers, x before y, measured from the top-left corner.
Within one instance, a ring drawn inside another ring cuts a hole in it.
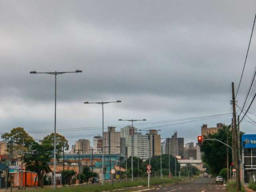
[[[226,143],[226,133],[228,131],[228,145],[232,146],[232,133],[230,126],[224,125],[222,129],[213,134],[204,136],[204,139],[218,139]],[[226,168],[226,146],[218,141],[203,140],[200,145],[202,152],[202,161],[208,165],[210,173],[213,175],[219,174],[220,170]],[[229,164],[232,162],[232,152],[229,149]]]

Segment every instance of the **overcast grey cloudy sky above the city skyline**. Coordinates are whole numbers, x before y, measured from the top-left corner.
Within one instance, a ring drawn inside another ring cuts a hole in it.
[[[57,130],[99,129],[60,132],[70,145],[102,133],[101,106],[84,101],[122,100],[104,106],[106,126],[129,123],[119,118],[156,122],[230,113],[231,82],[237,89],[255,7],[255,0],[0,0],[0,132],[54,130],[54,76],[32,70],[83,70],[57,76]],[[256,34],[238,105],[255,51]],[[241,130],[255,133],[246,121]],[[231,115],[162,127],[161,135],[177,130],[185,142],[196,142],[202,124],[218,122],[230,124]]]

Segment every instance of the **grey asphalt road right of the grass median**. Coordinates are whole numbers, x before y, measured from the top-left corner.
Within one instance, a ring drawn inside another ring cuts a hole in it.
[[[215,182],[215,178],[198,178],[192,182],[155,187],[149,192],[224,192],[225,189],[224,184]]]

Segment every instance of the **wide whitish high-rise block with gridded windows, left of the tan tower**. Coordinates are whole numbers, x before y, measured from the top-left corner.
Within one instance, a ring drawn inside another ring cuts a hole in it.
[[[142,134],[134,134],[128,136],[128,157],[136,156],[143,160],[148,159],[148,136]]]

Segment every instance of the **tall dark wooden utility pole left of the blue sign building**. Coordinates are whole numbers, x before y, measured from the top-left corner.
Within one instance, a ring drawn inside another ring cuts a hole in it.
[[[236,126],[236,101],[235,101],[235,89],[234,82],[232,82],[232,106],[233,106],[233,131],[234,131],[234,157],[236,162],[236,189],[241,190],[240,182],[240,168],[239,168],[239,158],[238,158],[238,138],[237,138],[237,126]]]

